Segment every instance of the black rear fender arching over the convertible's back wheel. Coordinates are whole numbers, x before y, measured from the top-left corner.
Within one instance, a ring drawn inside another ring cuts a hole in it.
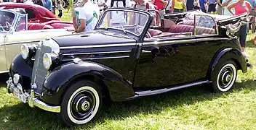
[[[228,61],[230,59],[236,62],[236,66],[238,69],[241,69],[243,73],[247,72],[247,59],[244,57],[241,51],[239,51],[237,48],[224,48],[212,59],[212,63],[210,64],[207,72],[207,79],[211,80],[210,75],[213,69],[215,69],[215,66],[220,63],[220,60]]]

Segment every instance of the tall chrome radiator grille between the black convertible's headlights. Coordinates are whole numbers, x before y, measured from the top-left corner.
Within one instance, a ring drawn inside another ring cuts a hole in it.
[[[33,71],[32,71],[32,79],[31,85],[36,84],[36,93],[41,93],[41,88],[44,83],[44,79],[47,76],[47,69],[44,68],[43,64],[43,57],[44,53],[50,53],[52,49],[49,46],[40,45],[39,43],[38,48],[36,50],[35,61],[33,64]]]

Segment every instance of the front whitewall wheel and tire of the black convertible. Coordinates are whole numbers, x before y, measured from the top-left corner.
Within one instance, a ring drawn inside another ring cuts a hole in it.
[[[68,126],[85,124],[97,115],[101,105],[100,87],[89,80],[79,81],[63,95],[60,117]]]

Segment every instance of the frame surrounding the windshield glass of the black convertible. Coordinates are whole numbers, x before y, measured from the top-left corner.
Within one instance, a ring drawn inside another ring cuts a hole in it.
[[[120,7],[114,7],[114,8],[110,8],[110,9],[106,9],[105,12],[103,12],[102,16],[100,17],[100,20],[98,20],[97,25],[95,26],[95,30],[117,30],[117,31],[122,31],[119,28],[116,27],[99,27],[100,25],[102,25],[102,22],[105,20],[105,17],[107,17],[106,15],[108,14],[108,12],[113,12],[113,11],[120,11],[120,12],[133,12],[133,13],[138,13],[138,14],[144,14],[147,17],[147,20],[145,22],[145,25],[142,26],[143,27],[143,31],[140,32],[140,34],[136,34],[135,32],[131,32],[129,30],[125,30],[124,33],[130,33],[132,35],[135,35],[137,37],[140,37],[142,35],[145,34],[145,30],[148,30],[148,26],[150,25],[149,23],[151,23],[152,17],[153,15],[150,12],[146,12],[143,9],[133,9],[133,8],[120,8]]]

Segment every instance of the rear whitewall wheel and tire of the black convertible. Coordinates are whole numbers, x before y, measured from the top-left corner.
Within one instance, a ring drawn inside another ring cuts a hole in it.
[[[212,88],[214,92],[227,92],[236,82],[237,66],[232,60],[220,62],[212,71]]]

